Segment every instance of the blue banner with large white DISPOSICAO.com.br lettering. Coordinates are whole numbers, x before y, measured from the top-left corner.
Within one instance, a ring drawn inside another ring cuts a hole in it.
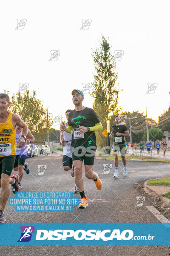
[[[170,223],[4,223],[0,245],[169,245]]]

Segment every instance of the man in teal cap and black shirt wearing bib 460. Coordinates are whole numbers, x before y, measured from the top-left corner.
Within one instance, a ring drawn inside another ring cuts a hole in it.
[[[74,164],[74,177],[82,198],[79,208],[86,208],[88,201],[85,197],[82,180],[82,161],[84,160],[85,176],[88,179],[94,180],[98,190],[102,189],[101,180],[97,173],[93,172],[94,155],[96,151],[96,135],[94,131],[102,130],[102,124],[93,109],[82,106],[84,99],[82,91],[73,90],[72,95],[75,109],[69,113],[68,128],[65,128],[64,123],[62,123],[60,130],[68,133],[73,132],[71,152]]]

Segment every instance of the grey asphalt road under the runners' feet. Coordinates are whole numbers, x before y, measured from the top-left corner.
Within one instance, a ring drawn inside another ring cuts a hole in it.
[[[74,191],[74,178],[70,171],[62,169],[62,157],[43,156],[28,159],[30,174],[24,174],[21,191]],[[112,164],[109,173],[103,173],[103,164]],[[43,175],[36,175],[38,165],[46,165]],[[88,208],[73,212],[15,212],[14,207],[6,206],[8,222],[159,222],[147,209],[150,201],[144,201],[142,207],[136,206],[136,197],[141,196],[137,183],[144,180],[169,176],[170,163],[163,162],[127,162],[127,177],[123,177],[122,162],[119,162],[119,178],[113,179],[113,161],[95,160],[94,171],[102,180],[102,190],[96,189],[95,183],[84,177],[85,195]],[[83,172],[84,176],[84,172]],[[11,192],[10,196],[14,194]],[[76,195],[79,196],[79,195]],[[23,252],[24,250],[24,252]],[[2,255],[75,255],[75,256],[164,256],[169,255],[169,246],[120,246],[120,245],[56,245],[56,246],[0,246]]]

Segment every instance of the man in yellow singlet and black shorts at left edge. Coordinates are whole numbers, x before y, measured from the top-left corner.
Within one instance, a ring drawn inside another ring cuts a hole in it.
[[[11,105],[9,96],[0,93],[0,222],[5,222],[4,209],[10,194],[10,187],[19,190],[18,175],[11,172],[14,166],[16,155],[16,126],[23,128],[22,135],[18,140],[17,147],[21,148],[25,143],[28,127],[17,114],[8,111]]]

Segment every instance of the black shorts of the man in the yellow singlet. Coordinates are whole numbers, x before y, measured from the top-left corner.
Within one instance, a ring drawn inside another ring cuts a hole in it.
[[[0,157],[0,179],[1,174],[5,173],[7,175],[11,175],[11,172],[13,170],[15,162],[15,155],[14,156],[6,156],[6,157]]]

